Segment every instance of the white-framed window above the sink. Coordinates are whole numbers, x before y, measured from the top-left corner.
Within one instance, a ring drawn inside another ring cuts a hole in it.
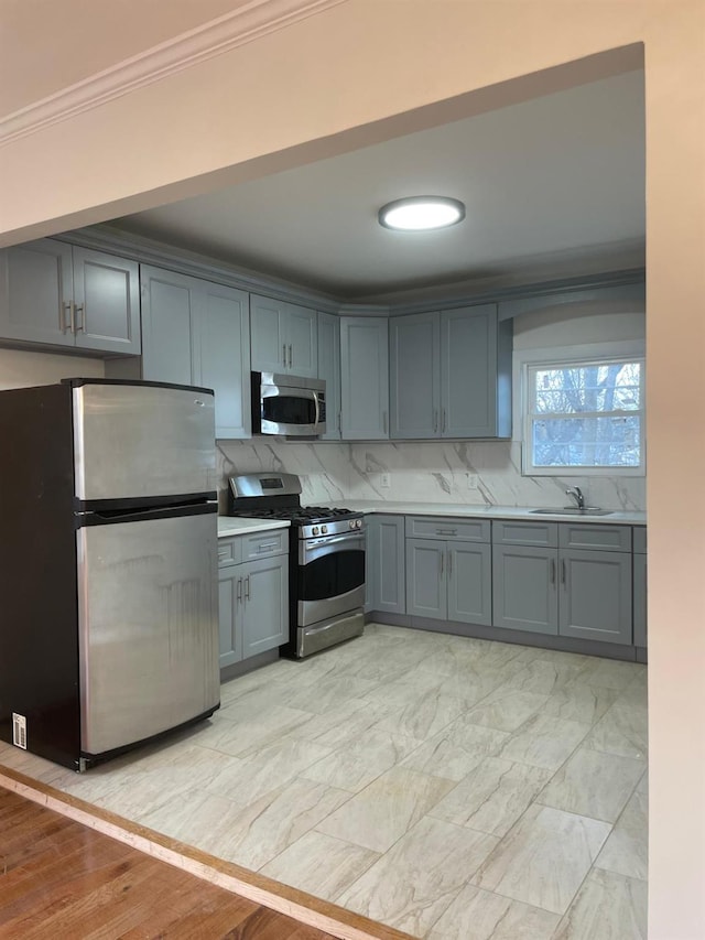
[[[644,473],[643,358],[525,366],[524,473]]]

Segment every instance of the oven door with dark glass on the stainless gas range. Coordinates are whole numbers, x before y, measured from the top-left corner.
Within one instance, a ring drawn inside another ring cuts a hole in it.
[[[365,531],[299,542],[300,627],[365,604]]]

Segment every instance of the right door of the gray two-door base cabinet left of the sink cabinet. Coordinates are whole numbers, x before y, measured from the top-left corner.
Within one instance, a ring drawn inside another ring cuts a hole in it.
[[[448,619],[492,623],[492,572],[489,545],[447,542]]]

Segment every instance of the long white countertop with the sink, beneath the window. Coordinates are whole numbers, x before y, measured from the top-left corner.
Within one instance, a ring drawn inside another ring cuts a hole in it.
[[[446,517],[466,517],[480,519],[532,519],[541,521],[556,520],[567,522],[579,519],[582,522],[598,522],[600,526],[621,525],[621,526],[646,526],[647,514],[622,510],[615,510],[609,516],[578,516],[573,512],[561,512],[557,509],[555,512],[532,512],[533,508],[523,506],[471,506],[457,503],[392,503],[386,499],[345,499],[343,500],[346,509],[352,509],[355,512],[386,512],[391,515],[403,516],[446,516]]]

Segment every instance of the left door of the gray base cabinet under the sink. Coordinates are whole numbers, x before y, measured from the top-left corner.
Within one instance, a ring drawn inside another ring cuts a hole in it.
[[[557,552],[492,547],[492,625],[535,634],[558,633]]]

